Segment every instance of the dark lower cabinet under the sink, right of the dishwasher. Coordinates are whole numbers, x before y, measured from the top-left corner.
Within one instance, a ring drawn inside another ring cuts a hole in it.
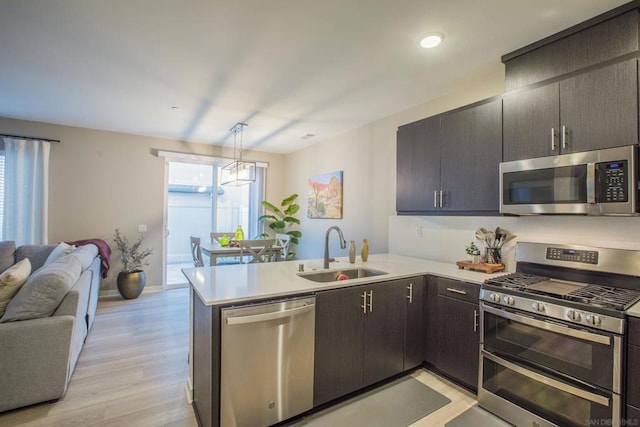
[[[421,346],[412,347],[413,331],[405,335],[411,288],[418,294],[424,279],[336,289],[316,294],[314,406],[345,396],[404,371],[405,348],[413,367],[422,363]],[[422,296],[416,297],[418,300]],[[414,299],[415,301],[415,299]],[[419,311],[418,308],[415,308]],[[420,334],[418,332],[418,334]],[[407,346],[407,347],[406,347]]]

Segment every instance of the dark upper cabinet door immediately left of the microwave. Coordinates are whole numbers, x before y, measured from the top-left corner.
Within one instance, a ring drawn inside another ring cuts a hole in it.
[[[441,210],[497,213],[501,100],[444,114],[441,132]]]

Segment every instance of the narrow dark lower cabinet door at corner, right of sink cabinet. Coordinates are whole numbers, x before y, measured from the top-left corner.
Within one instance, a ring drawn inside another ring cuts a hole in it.
[[[406,295],[406,321],[404,333],[404,367],[407,371],[422,364],[425,360],[425,342],[427,341],[425,312],[427,286],[424,277],[414,277],[403,281]]]

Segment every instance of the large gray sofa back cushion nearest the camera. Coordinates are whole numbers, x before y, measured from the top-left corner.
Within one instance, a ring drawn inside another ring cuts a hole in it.
[[[0,323],[49,317],[78,281],[82,265],[65,255],[34,272],[7,305]]]

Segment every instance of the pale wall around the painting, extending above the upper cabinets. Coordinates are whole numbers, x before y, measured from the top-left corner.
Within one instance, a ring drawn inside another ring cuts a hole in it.
[[[298,258],[321,258],[325,232],[338,225],[348,240],[355,240],[358,253],[363,238],[371,253],[387,252],[389,216],[395,215],[396,131],[398,126],[448,111],[504,91],[502,64],[488,67],[474,80],[458,82],[450,96],[434,99],[393,116],[330,138],[286,157],[286,193],[300,194],[303,238]],[[344,171],[343,219],[307,218],[307,179],[336,170]],[[393,235],[391,239],[401,236]],[[346,256],[335,235],[330,236],[332,256]],[[347,242],[348,243],[348,242]]]

